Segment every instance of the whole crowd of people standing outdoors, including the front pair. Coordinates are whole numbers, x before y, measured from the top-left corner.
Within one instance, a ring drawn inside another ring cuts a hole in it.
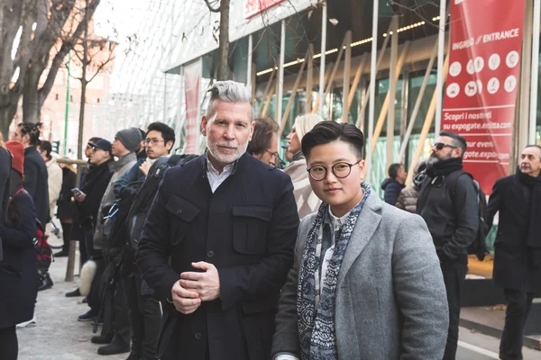
[[[482,192],[463,171],[466,141],[436,139],[405,187],[393,164],[383,201],[364,182],[355,126],[299,116],[283,169],[280,127],[252,119],[250,91],[216,82],[201,120],[206,152],[171,155],[161,122],[88,140],[88,166],[58,164],[39,125],[0,148],[0,348],[35,325],[36,227],[56,216],[65,257],[78,241],[80,284],[99,355],[140,359],[454,359],[469,249],[500,211],[494,280],[509,302],[501,359],[521,358],[541,281],[541,148]],[[484,196],[484,195],[482,195]],[[537,234],[537,235],[536,235]],[[37,286],[36,286],[37,284]],[[89,337],[91,334],[89,334]]]

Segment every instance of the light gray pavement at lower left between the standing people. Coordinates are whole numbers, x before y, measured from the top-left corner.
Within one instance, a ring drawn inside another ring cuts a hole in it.
[[[58,251],[58,250],[55,250]],[[81,303],[82,297],[67,298],[66,293],[74,290],[74,283],[64,282],[67,257],[55,259],[50,266],[50,276],[54,286],[38,293],[36,316],[38,325],[30,329],[18,329],[20,360],[124,360],[128,353],[117,356],[98,356],[98,345],[90,338],[92,323],[79,322],[78,315],[88,310]],[[76,274],[78,274],[76,264]],[[98,329],[99,334],[99,329]]]

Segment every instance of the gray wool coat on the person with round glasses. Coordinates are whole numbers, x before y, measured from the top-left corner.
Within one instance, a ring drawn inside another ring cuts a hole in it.
[[[316,214],[298,228],[295,263],[276,316],[272,354],[299,356],[299,264]],[[371,193],[353,229],[338,277],[335,337],[340,360],[444,356],[449,316],[445,284],[425,221]]]

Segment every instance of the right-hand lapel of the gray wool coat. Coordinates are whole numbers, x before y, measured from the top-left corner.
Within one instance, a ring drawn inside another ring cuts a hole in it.
[[[345,275],[353,266],[353,262],[361,255],[362,250],[368,245],[374,232],[378,229],[381,221],[380,211],[381,200],[376,193],[371,192],[359,214],[352,237],[345,250],[344,260],[338,275],[338,284],[344,283]]]

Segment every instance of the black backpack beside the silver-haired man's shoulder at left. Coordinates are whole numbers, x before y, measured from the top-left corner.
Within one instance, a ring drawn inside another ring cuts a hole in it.
[[[135,196],[127,217],[128,244],[133,252],[139,246],[144,221],[151,210],[152,202],[158,192],[165,171],[173,166],[184,166],[196,157],[197,155],[192,154],[172,155],[169,158],[161,157],[152,164],[149,174]]]

